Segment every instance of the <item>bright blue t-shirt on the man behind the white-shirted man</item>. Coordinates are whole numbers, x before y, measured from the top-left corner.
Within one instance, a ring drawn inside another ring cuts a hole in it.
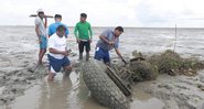
[[[65,32],[65,36],[68,35],[68,28],[61,23],[61,22],[55,22],[55,23],[52,23],[50,26],[49,26],[49,36],[53,35],[54,33],[56,33],[56,29],[58,28],[58,25],[64,25],[66,28],[66,32]]]

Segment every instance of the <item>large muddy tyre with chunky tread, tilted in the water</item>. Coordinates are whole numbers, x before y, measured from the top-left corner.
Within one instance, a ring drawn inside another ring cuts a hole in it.
[[[105,73],[106,66],[98,61],[83,65],[83,78],[92,96],[103,106],[112,109],[129,109],[129,100]]]

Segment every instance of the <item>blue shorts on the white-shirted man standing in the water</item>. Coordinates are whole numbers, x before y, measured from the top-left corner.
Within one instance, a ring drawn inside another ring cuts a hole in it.
[[[49,69],[52,73],[53,72],[57,73],[61,70],[61,67],[66,67],[66,66],[71,65],[71,61],[66,56],[62,59],[57,59],[57,58],[51,56],[50,54],[47,56],[49,56],[49,61],[50,61]]]

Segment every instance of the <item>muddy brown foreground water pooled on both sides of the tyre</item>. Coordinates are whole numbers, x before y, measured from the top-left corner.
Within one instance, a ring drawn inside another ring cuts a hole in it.
[[[73,72],[69,77],[62,73],[56,75],[53,83],[46,81],[26,90],[24,96],[17,97],[10,106],[2,109],[108,109],[100,106],[90,97],[80,73]],[[162,109],[162,101],[136,89],[130,103],[131,109]]]

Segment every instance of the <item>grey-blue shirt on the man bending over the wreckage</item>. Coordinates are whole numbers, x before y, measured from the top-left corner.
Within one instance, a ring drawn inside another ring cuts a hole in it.
[[[119,45],[119,37],[116,37],[112,30],[106,30],[100,35],[104,35],[106,40],[114,41],[114,46],[108,45],[106,42],[104,42],[101,39],[97,42],[96,46],[103,48],[104,51],[110,51],[114,47],[118,48]]]

